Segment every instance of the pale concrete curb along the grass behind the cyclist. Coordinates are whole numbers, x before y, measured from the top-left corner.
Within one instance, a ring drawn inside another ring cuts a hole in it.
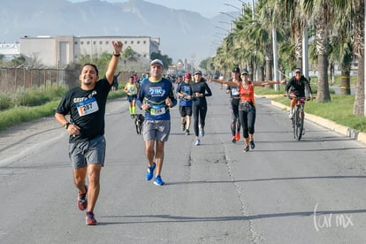
[[[273,106],[281,108],[283,110],[289,111],[290,107],[286,106],[282,103],[278,103],[275,101],[271,101]],[[305,118],[309,119],[311,122],[316,123],[317,125],[324,126],[329,128],[337,133],[348,136],[349,138],[355,139],[355,141],[360,141],[366,144],[366,133],[361,133],[356,131],[355,129],[349,128],[347,126],[340,126],[337,123],[334,123],[332,120],[321,118],[313,114],[305,113]]]

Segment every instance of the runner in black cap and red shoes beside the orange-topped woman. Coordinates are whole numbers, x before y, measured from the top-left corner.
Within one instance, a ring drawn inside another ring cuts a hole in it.
[[[234,67],[232,71],[233,78],[230,81],[233,81],[237,84],[240,84],[240,68]],[[230,94],[230,109],[232,113],[232,141],[235,143],[236,141],[240,141],[240,118],[239,118],[239,102],[240,102],[240,94],[239,88],[227,86],[226,93]]]

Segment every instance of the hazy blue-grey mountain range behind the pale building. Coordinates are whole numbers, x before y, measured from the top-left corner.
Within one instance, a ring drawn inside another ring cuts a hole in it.
[[[172,57],[173,62],[187,59],[198,65],[215,54],[229,28],[222,23],[231,20],[225,14],[209,19],[195,11],[143,0],[113,4],[101,0],[75,4],[66,0],[9,0],[0,4],[0,42],[19,42],[25,35],[152,36],[160,37],[161,53]]]

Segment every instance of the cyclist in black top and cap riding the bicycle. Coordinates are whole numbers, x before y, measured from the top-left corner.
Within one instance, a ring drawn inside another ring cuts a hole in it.
[[[295,69],[295,75],[292,77],[288,83],[286,84],[285,92],[286,96],[289,96],[290,101],[290,113],[288,115],[289,118],[294,118],[294,106],[295,106],[295,99],[296,97],[305,97],[305,88],[308,91],[310,99],[313,99],[313,93],[311,91],[311,87],[309,84],[309,80],[305,78],[305,76],[301,75],[301,69]],[[291,88],[290,95],[288,95],[288,90]]]

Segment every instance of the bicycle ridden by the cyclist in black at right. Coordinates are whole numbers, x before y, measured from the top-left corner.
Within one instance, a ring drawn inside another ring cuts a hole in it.
[[[294,116],[291,118],[294,128],[294,139],[301,140],[301,136],[305,134],[304,119],[305,119],[305,101],[309,101],[309,97],[293,97],[295,99]],[[314,98],[313,98],[314,99]]]

